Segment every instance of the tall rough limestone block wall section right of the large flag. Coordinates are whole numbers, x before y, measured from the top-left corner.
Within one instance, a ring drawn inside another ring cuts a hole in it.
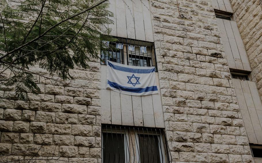
[[[151,1],[172,159],[253,162],[212,2],[178,3]]]

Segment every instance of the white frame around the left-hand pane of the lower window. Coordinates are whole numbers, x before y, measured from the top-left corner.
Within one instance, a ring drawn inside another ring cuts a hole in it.
[[[111,128],[110,128],[111,129]],[[104,156],[104,152],[103,152],[103,149],[104,149],[104,135],[103,135],[103,133],[118,133],[118,134],[123,134],[124,135],[124,149],[125,149],[125,151],[124,151],[124,154],[125,154],[125,163],[128,163],[127,161],[128,160],[130,160],[130,153],[128,153],[129,152],[129,149],[128,149],[128,147],[130,146],[130,144],[129,144],[129,132],[128,132],[128,130],[127,129],[121,129],[121,131],[119,131],[119,129],[116,129],[116,131],[113,131],[113,130],[111,130],[111,131],[106,131],[105,129],[102,129],[102,136],[101,136],[101,141],[102,141],[102,162],[104,162],[104,160],[103,160],[103,156]],[[128,154],[128,155],[127,155]]]

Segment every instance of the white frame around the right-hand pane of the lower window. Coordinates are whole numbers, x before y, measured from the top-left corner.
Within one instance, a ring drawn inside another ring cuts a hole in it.
[[[142,133],[140,133],[138,131],[135,131],[135,137],[138,140],[136,142],[136,162],[141,162],[141,160],[140,160],[140,149],[139,149],[139,137],[138,137],[138,134],[140,135]],[[156,135],[157,136],[157,139],[158,139],[158,142],[159,142],[158,149],[159,149],[160,163],[166,162],[165,153],[163,153],[165,151],[165,149],[164,149],[164,142],[163,142],[162,135],[160,133],[148,133],[147,135]],[[163,161],[162,161],[161,158],[163,158]]]

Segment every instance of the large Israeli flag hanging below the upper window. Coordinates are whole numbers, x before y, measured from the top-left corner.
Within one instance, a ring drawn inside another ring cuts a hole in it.
[[[157,94],[155,67],[129,66],[107,60],[107,88],[121,94]]]

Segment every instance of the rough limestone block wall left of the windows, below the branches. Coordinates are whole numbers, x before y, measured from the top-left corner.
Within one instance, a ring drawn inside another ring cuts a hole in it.
[[[0,162],[101,162],[100,62],[70,70],[75,80],[61,81],[32,67],[41,92],[31,103],[17,100],[14,89],[0,91]],[[5,71],[9,77],[10,71]]]

